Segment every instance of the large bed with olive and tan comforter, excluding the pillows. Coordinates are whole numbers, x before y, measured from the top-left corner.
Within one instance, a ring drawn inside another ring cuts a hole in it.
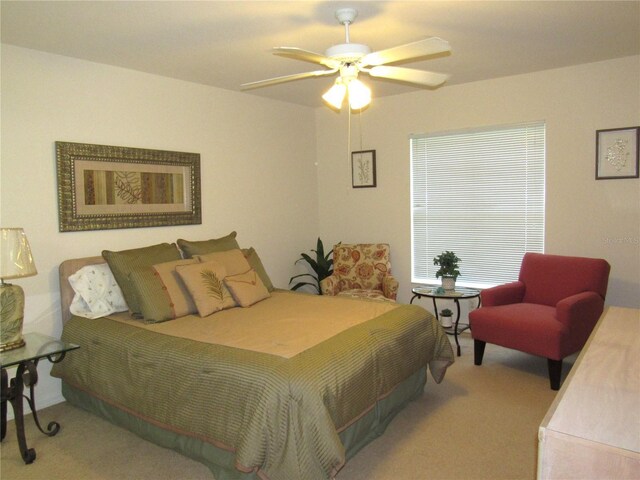
[[[422,395],[427,371],[440,383],[453,363],[446,334],[415,305],[275,289],[250,308],[161,323],[71,315],[69,276],[104,261],[60,266],[62,338],[81,348],[52,375],[70,403],[216,480],[334,478]]]

